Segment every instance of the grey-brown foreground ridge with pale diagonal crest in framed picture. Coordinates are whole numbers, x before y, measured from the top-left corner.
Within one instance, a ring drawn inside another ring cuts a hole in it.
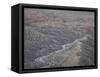
[[[54,51],[46,56],[36,58],[33,61],[31,68],[49,68],[49,67],[64,67],[64,66],[80,66],[80,65],[91,65],[94,57],[92,51],[92,46],[83,50],[83,45],[87,47],[86,41],[90,40],[90,36],[86,35],[80,39],[73,41],[70,44],[62,45],[61,50]],[[87,53],[89,51],[91,54]],[[88,56],[86,56],[88,55]],[[82,62],[84,60],[84,62]],[[86,63],[88,62],[88,63]]]

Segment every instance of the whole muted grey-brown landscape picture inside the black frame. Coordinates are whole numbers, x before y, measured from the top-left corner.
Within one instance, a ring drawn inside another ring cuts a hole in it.
[[[94,65],[92,12],[25,9],[24,68]]]

